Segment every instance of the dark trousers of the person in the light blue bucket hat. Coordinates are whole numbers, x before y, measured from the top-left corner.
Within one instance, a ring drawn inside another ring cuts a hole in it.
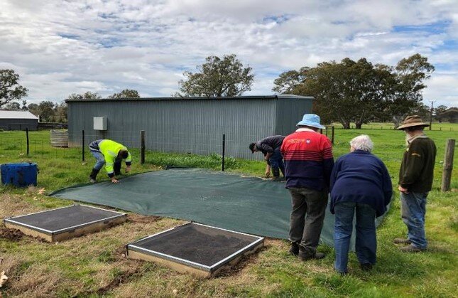
[[[299,243],[302,250],[315,254],[320,241],[327,206],[327,191],[312,188],[289,188],[291,193],[291,242]]]

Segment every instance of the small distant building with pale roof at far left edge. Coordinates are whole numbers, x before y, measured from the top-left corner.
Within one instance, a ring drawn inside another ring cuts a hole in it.
[[[28,111],[0,110],[0,129],[3,130],[37,130],[38,117]]]

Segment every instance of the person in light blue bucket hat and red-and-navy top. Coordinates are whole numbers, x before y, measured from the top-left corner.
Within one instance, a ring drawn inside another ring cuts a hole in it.
[[[320,116],[305,114],[298,129],[285,137],[281,153],[285,161],[286,188],[291,194],[290,253],[300,260],[322,259],[317,252],[327,206],[334,158],[331,141],[320,129]]]

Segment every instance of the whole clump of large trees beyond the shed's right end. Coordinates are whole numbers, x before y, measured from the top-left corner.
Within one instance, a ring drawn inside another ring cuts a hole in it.
[[[354,122],[361,128],[374,119],[393,119],[398,125],[409,113],[423,112],[423,81],[432,71],[434,66],[420,54],[400,60],[395,68],[344,58],[282,73],[273,90],[314,96],[313,111],[325,123],[339,121],[349,128]]]

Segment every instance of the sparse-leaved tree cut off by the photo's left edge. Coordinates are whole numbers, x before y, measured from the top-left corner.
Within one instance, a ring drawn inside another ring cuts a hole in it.
[[[0,70],[0,108],[27,96],[28,89],[18,84],[19,75],[11,69]]]

